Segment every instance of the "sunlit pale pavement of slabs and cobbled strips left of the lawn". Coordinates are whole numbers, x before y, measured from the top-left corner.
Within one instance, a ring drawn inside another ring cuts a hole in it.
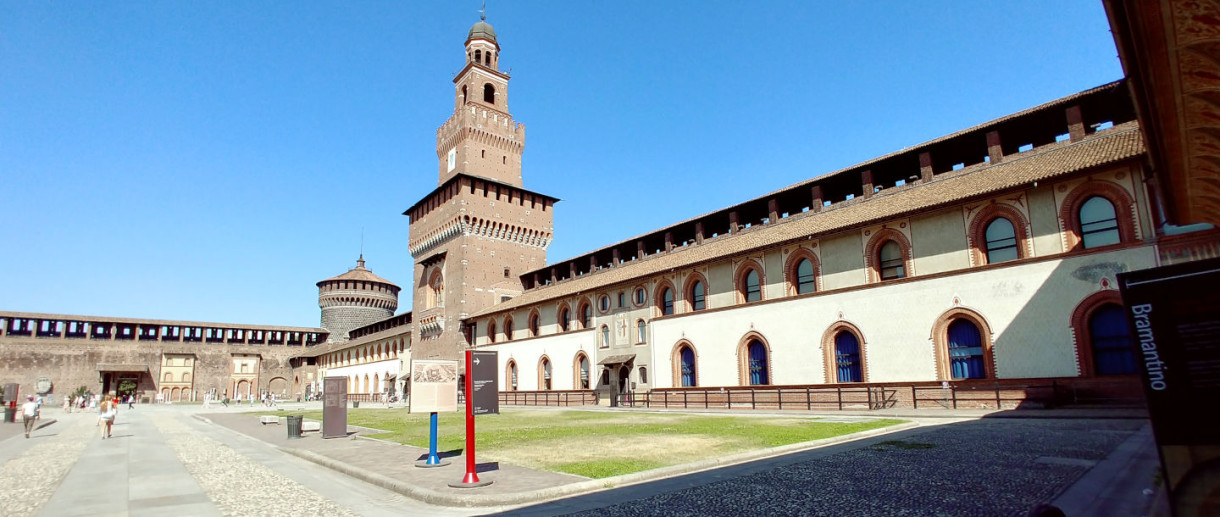
[[[192,417],[121,411],[102,440],[93,413],[0,437],[0,516],[466,516],[426,505]],[[45,417],[45,416],[44,416]]]

